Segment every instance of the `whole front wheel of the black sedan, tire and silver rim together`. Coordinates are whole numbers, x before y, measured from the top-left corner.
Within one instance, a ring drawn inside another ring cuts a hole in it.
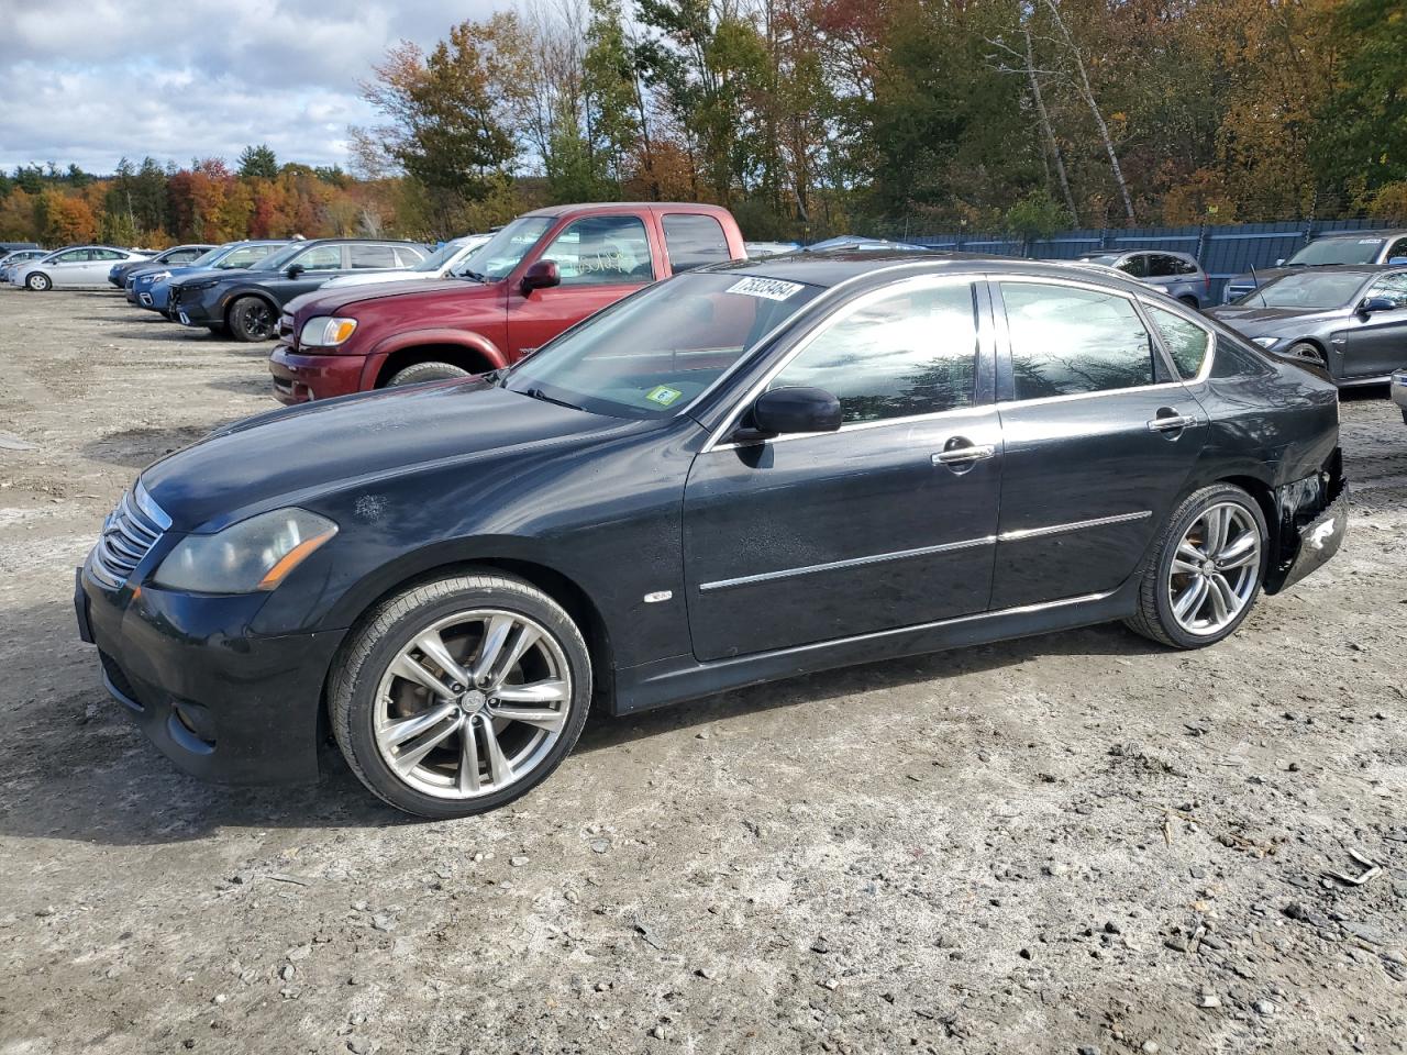
[[[526,646],[525,629],[539,634]],[[476,670],[494,641],[491,670]],[[391,806],[431,819],[484,813],[532,791],[575,746],[590,706],[591,654],[571,616],[491,570],[421,582],[377,606],[328,682],[332,733],[352,772]]]

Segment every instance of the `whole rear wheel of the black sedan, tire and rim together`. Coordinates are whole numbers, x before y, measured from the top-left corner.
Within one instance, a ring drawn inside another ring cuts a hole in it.
[[[1209,516],[1224,518],[1214,553],[1207,551],[1217,530]],[[1172,648],[1230,637],[1255,606],[1268,535],[1261,505],[1240,487],[1213,484],[1189,495],[1144,563],[1138,612],[1126,625]]]

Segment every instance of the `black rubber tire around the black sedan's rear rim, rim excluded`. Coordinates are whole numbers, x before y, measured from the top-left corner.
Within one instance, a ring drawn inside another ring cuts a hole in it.
[[[1240,612],[1225,626],[1211,633],[1190,633],[1186,630],[1172,610],[1172,561],[1178,556],[1178,546],[1183,536],[1209,509],[1217,505],[1234,504],[1240,506],[1249,523],[1255,526],[1259,536],[1259,558],[1254,565],[1254,582]],[[1255,608],[1255,601],[1261,592],[1261,582],[1265,578],[1265,564],[1269,549],[1266,546],[1269,532],[1265,526],[1265,513],[1261,504],[1242,488],[1233,484],[1213,484],[1188,495],[1178,511],[1168,519],[1162,536],[1154,546],[1152,553],[1141,570],[1138,585],[1138,610],[1124,623],[1134,633],[1142,634],[1159,644],[1171,648],[1204,648],[1209,644],[1225,640],[1245,620]]]

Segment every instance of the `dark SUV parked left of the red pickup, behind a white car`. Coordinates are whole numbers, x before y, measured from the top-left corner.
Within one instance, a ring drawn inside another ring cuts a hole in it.
[[[184,326],[204,326],[235,340],[267,340],[283,307],[328,279],[363,269],[404,270],[426,257],[416,242],[318,238],[284,246],[253,267],[170,283],[169,311]]]

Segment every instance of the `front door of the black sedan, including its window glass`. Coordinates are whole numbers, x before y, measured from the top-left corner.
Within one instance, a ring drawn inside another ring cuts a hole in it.
[[[684,560],[699,660],[986,609],[1002,475],[988,318],[968,277],[889,286],[834,311],[749,394],[825,388],[844,423],[695,459]]]

